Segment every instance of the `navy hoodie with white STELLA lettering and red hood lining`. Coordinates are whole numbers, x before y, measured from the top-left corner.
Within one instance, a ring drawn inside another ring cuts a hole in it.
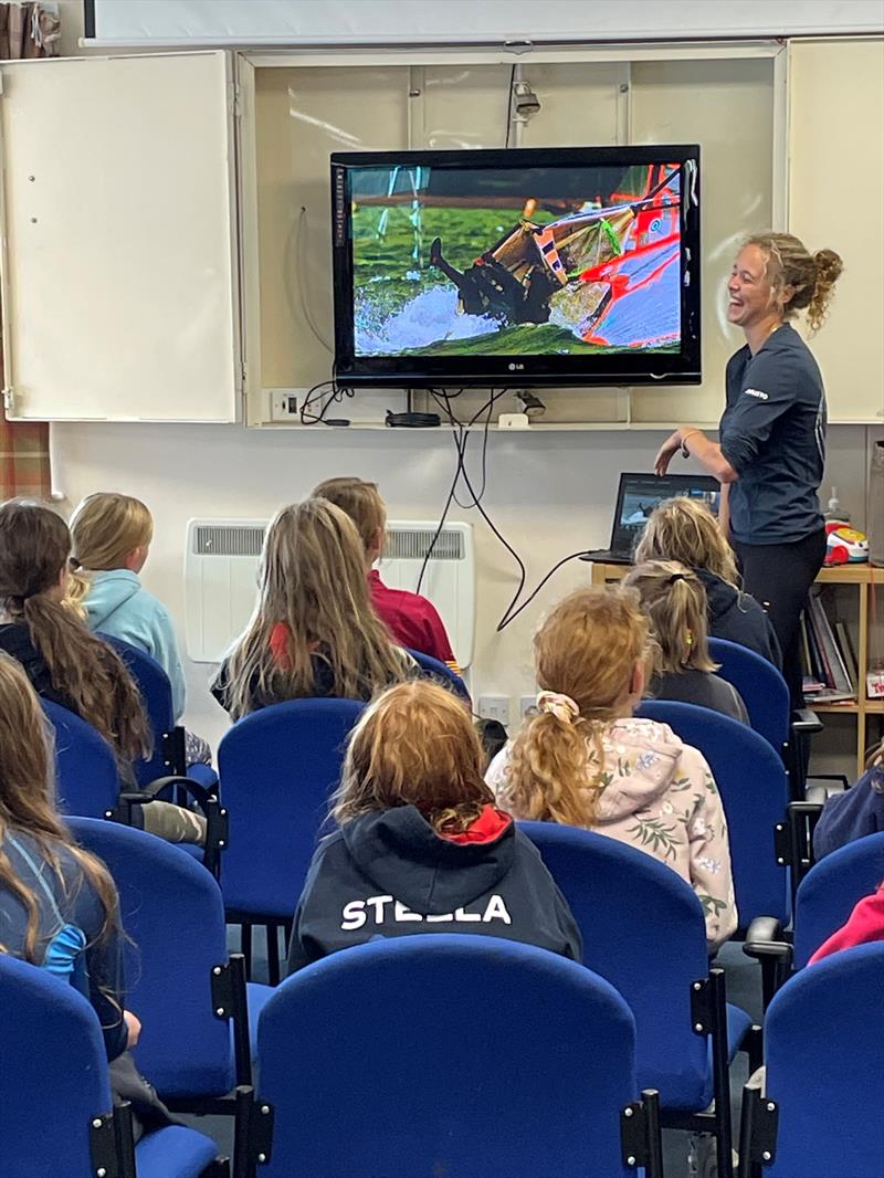
[[[580,929],[530,840],[486,806],[437,834],[414,806],[363,814],[319,843],[295,913],[289,973],[378,937],[479,933],[581,961]]]

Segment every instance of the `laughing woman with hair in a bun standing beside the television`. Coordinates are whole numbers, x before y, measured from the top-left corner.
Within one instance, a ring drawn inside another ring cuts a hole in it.
[[[787,233],[746,241],[727,283],[727,318],[746,344],[727,362],[720,441],[682,425],[654,459],[665,475],[681,450],[723,484],[721,527],[730,529],[744,589],[768,609],[793,708],[804,706],[799,618],[826,550],[817,495],[826,399],[817,362],[789,320],[806,309],[816,332],[840,272],[837,253],[811,254]]]

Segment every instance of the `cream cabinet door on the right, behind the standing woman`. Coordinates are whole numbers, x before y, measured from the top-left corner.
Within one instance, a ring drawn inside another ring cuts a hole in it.
[[[789,229],[844,259],[810,345],[832,422],[884,421],[884,41],[790,46]]]

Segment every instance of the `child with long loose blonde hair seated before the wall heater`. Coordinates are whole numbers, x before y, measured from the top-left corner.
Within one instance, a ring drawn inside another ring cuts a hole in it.
[[[369,700],[415,669],[371,608],[349,516],[311,498],[268,529],[255,615],[212,684],[235,720],[284,700]]]

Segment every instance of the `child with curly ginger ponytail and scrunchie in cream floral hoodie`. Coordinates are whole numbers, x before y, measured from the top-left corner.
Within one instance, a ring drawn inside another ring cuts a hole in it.
[[[667,863],[697,893],[715,947],[737,928],[727,820],[702,755],[633,716],[652,659],[634,590],[566,597],[534,638],[537,710],[486,780],[516,818],[586,827]]]

